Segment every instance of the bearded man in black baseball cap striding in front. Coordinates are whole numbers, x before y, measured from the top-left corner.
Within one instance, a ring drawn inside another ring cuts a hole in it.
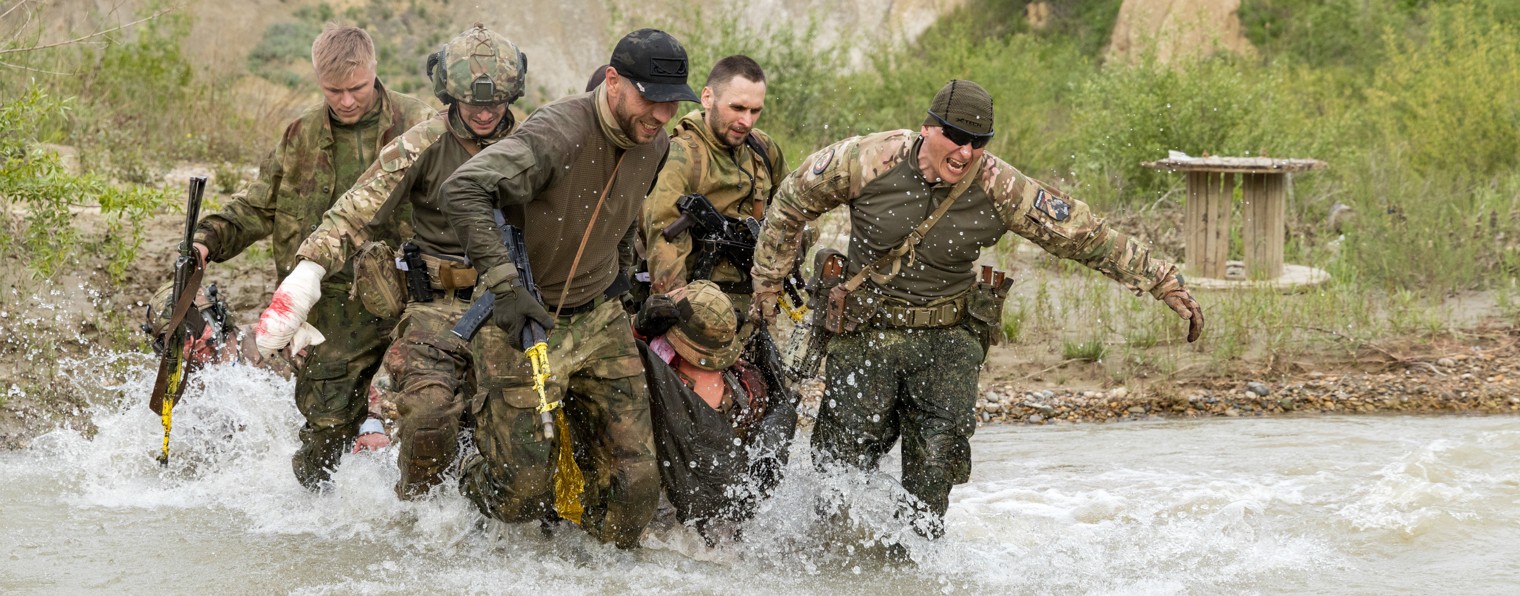
[[[480,333],[500,333],[503,342],[476,345],[511,345],[473,354],[470,411],[480,453],[464,461],[461,490],[486,515],[527,522],[558,514],[620,547],[637,546],[654,515],[660,471],[643,365],[617,300],[628,287],[617,246],[664,163],[664,123],[676,102],[698,100],[686,74],[686,49],[669,33],[628,33],[599,87],[538,108],[442,185],[444,211],[480,272],[474,292],[496,295],[500,328]],[[518,280],[492,219],[497,208],[524,231],[543,304]],[[549,331],[549,401],[562,401],[567,421],[553,439],[537,430],[540,397],[520,351],[527,321]],[[573,482],[556,482],[573,477],[555,476],[556,458],[568,449],[564,430],[584,494]],[[584,512],[575,511],[582,505]]]

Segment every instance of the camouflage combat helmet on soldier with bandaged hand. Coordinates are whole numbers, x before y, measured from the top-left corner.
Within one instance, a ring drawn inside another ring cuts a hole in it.
[[[527,55],[476,23],[427,56],[427,78],[439,102],[511,103],[523,96]]]

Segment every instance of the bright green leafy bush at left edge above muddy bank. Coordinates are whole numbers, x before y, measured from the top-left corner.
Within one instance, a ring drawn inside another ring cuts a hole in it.
[[[58,154],[33,138],[41,122],[68,108],[35,87],[0,103],[0,213],[5,213],[0,243],[17,248],[23,262],[43,277],[56,272],[81,245],[90,246],[109,257],[106,272],[120,281],[143,245],[143,222],[166,205],[167,193],[65,172]],[[103,237],[85,242],[78,219],[93,207],[91,199],[105,230]]]

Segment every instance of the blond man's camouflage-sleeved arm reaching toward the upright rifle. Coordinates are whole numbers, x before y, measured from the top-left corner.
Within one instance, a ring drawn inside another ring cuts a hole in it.
[[[284,179],[284,152],[281,143],[264,157],[258,176],[220,211],[201,217],[196,224],[195,242],[207,248],[207,260],[225,262],[243,252],[254,242],[275,230],[275,198]]]

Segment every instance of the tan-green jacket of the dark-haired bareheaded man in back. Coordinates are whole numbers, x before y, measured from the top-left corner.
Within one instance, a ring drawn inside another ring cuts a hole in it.
[[[670,157],[660,170],[655,190],[644,201],[641,236],[644,258],[649,260],[651,292],[664,293],[686,286],[698,254],[692,249],[692,233],[666,240],[664,231],[681,213],[675,201],[698,193],[719,213],[730,217],[763,217],[766,204],[775,196],[777,184],[786,176],[781,147],[760,129],[749,134],[762,157],[749,143],[728,147],[713,135],[707,113],[696,109],[681,119],[670,138]],[[769,164],[766,163],[769,161]],[[727,260],[713,268],[710,278],[717,283],[746,281],[746,274]]]

